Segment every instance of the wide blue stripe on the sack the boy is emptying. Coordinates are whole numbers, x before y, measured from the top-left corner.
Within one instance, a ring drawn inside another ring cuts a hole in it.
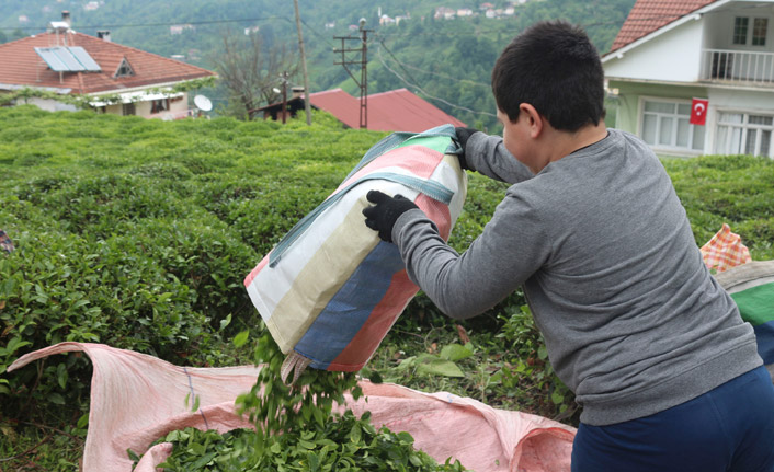
[[[294,350],[325,370],[350,344],[403,268],[395,244],[380,241],[328,302]]]

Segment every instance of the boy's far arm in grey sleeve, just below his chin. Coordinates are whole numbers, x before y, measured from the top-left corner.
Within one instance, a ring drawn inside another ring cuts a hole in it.
[[[501,137],[481,131],[474,133],[467,139],[465,161],[471,171],[509,184],[534,176],[526,165],[508,152]]]

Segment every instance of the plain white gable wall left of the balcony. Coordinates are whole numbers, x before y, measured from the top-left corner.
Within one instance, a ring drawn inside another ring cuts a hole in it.
[[[698,80],[703,46],[703,20],[691,20],[636,48],[636,54],[615,54],[605,60],[605,76],[670,82]]]

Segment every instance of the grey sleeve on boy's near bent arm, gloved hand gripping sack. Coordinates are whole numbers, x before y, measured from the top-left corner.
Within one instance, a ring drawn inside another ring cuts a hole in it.
[[[550,254],[538,211],[511,191],[463,254],[441,239],[421,210],[398,218],[392,240],[409,278],[454,319],[475,316],[502,301]]]

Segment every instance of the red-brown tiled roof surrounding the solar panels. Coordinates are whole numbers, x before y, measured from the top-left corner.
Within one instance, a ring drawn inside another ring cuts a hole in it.
[[[57,46],[55,33],[43,33],[11,43],[0,44],[0,84],[71,89],[70,93],[91,94],[121,91],[136,87],[179,82],[215,76],[201,67],[168,59],[151,53],[122,46],[83,33],[60,34],[67,46],[81,46],[100,65],[101,72],[59,72],[48,68],[35,47]],[[64,42],[60,41],[64,45]],[[114,78],[122,60],[126,60],[134,76]]]

